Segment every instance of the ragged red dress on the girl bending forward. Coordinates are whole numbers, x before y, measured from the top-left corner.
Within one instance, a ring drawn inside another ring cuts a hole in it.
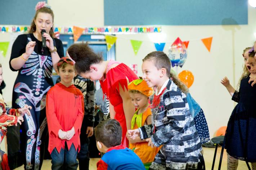
[[[105,80],[100,80],[103,93],[108,97],[110,103],[114,107],[116,112],[115,119],[120,123],[122,127],[122,144],[129,147],[129,142],[125,136],[127,128],[125,121],[125,113],[123,112],[123,100],[120,96],[119,83],[123,90],[127,88],[127,79],[129,82],[138,79],[139,77],[124,63],[120,63],[116,67],[109,69],[116,61],[109,61],[107,67],[107,74]],[[127,77],[127,79],[126,79]],[[135,111],[135,110],[134,110]]]

